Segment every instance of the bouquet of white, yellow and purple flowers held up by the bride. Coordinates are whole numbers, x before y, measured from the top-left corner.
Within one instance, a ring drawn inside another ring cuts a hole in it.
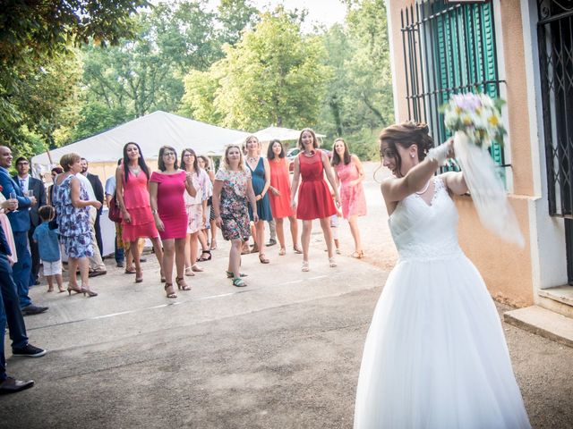
[[[449,103],[441,106],[444,125],[453,133],[463,131],[475,146],[489,148],[492,141],[503,145],[506,130],[501,122],[500,109],[504,103],[500,98],[493,99],[485,94],[455,95]]]

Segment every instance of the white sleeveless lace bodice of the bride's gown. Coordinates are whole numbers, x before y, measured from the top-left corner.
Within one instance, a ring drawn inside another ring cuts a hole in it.
[[[401,260],[431,261],[462,253],[458,244],[458,210],[440,178],[432,179],[434,194],[428,205],[417,194],[398,203],[389,228]]]

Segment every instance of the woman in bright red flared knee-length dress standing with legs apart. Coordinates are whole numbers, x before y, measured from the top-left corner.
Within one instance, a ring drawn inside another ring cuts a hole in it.
[[[334,189],[334,199],[337,206],[338,189],[334,181],[334,174],[329,163],[329,157],[325,152],[319,150],[319,143],[314,131],[306,128],[298,138],[298,147],[301,153],[295,158],[295,174],[291,188],[291,206],[296,207],[296,218],[303,221],[303,271],[309,271],[308,248],[311,244],[312,220],[321,221],[322,233],[329,252],[330,267],[337,266],[332,252],[332,233],[330,231],[330,216],[337,213],[337,208],[332,202],[329,186],[324,181],[324,173],[329,180],[330,186]],[[301,189],[298,191],[298,206],[295,196],[298,182],[302,176]]]

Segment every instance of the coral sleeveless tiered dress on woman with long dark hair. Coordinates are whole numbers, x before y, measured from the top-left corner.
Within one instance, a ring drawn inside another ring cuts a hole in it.
[[[128,172],[129,180],[124,183],[124,205],[129,212],[131,222],[122,220],[122,239],[125,242],[141,238],[155,239],[159,236],[155,220],[151,214],[150,191],[147,188],[147,174],[140,172],[135,175]],[[124,176],[125,177],[125,176]]]

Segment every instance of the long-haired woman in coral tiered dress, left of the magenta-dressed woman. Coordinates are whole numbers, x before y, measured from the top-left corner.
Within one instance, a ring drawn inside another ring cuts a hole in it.
[[[135,264],[135,282],[143,282],[138,241],[149,238],[159,266],[163,250],[150,206],[150,169],[137,143],[124,146],[124,162],[115,170],[115,199],[122,211],[122,240],[129,243]],[[163,280],[163,274],[161,275]]]

